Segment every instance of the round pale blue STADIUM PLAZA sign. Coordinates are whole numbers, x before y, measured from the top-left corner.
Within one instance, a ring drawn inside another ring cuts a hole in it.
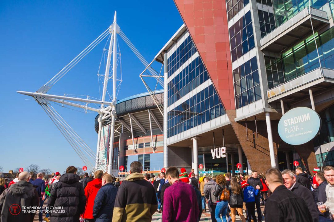
[[[321,119],[317,112],[307,107],[297,107],[283,115],[278,123],[278,134],[291,145],[301,145],[317,136]]]

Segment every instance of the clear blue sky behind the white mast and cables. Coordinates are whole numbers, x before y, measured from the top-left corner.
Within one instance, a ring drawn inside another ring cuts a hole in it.
[[[4,172],[37,164],[53,172],[83,166],[51,120],[31,97],[113,22],[151,61],[182,25],[169,1],[0,1],[0,166]],[[99,96],[97,72],[106,42],[70,70],[50,93]],[[144,66],[119,38],[123,83],[118,98],[145,92]],[[110,90],[111,88],[109,88]],[[96,113],[53,105],[96,152]]]

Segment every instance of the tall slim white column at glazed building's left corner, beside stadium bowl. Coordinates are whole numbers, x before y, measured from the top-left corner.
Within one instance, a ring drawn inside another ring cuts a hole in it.
[[[164,167],[169,167],[168,164],[168,147],[167,147],[167,78],[168,78],[168,73],[167,73],[167,51],[165,51],[164,54]]]

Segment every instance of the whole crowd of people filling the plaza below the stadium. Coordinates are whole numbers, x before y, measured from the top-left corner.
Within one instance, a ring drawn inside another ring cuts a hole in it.
[[[35,212],[15,214],[12,206],[42,207],[45,200],[46,209],[61,210],[39,210],[41,222],[151,221],[155,212],[162,213],[166,222],[196,222],[207,210],[213,222],[235,222],[236,215],[242,222],[334,220],[332,166],[323,172],[314,168],[313,177],[302,168],[282,172],[270,168],[265,174],[253,170],[246,176],[226,173],[198,178],[193,169],[188,175],[185,168],[179,172],[176,167],[155,177],[144,175],[138,161],[131,163],[124,181],[101,170],[94,172],[94,178],[88,173],[80,178],[76,172],[69,166],[66,173],[56,172],[49,180],[43,173],[35,178],[26,171],[10,183],[0,178],[1,222],[32,222]]]

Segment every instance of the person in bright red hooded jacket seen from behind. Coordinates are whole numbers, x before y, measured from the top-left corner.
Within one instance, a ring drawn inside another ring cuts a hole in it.
[[[87,198],[87,203],[86,203],[86,208],[85,208],[85,211],[83,212],[82,217],[85,219],[86,222],[95,221],[93,217],[94,200],[95,200],[96,194],[102,187],[102,176],[103,176],[102,170],[95,171],[94,173],[95,179],[92,180],[91,182],[88,182],[85,188],[85,196]]]

